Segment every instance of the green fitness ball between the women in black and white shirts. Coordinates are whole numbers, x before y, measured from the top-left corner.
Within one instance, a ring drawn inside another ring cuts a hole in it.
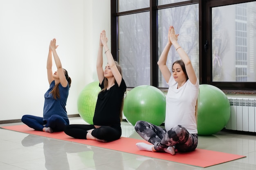
[[[154,86],[141,85],[133,88],[124,99],[124,116],[133,126],[138,120],[157,126],[165,119],[165,95]]]

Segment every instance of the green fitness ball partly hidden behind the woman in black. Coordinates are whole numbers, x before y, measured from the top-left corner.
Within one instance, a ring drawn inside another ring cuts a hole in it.
[[[95,81],[86,85],[78,96],[78,113],[80,117],[89,124],[93,124],[95,106],[100,91],[99,81]]]

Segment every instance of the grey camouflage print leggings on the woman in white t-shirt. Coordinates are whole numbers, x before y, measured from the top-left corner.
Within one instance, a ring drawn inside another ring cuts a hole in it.
[[[149,122],[138,121],[135,130],[146,141],[154,144],[157,151],[164,151],[168,146],[175,146],[180,152],[195,150],[198,145],[198,135],[190,134],[183,126],[174,126],[169,131]]]

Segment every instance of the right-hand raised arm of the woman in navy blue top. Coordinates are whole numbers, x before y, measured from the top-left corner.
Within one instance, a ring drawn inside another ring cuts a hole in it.
[[[56,46],[56,39],[52,39],[51,42],[50,42],[50,45],[49,45],[49,48],[52,50],[52,54],[53,54],[53,57],[54,57],[54,61],[55,61],[55,64],[56,64],[56,67],[57,67],[57,71],[58,71],[58,76],[59,76],[59,79],[60,79],[60,83],[63,87],[67,87],[67,79],[65,77],[65,74],[64,74],[64,71],[63,71],[63,68],[62,68],[62,65],[61,65],[61,60],[60,58],[58,57],[58,54],[56,52],[56,48],[58,46]]]

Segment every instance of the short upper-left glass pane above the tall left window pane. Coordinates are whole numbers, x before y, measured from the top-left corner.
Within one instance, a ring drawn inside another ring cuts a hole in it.
[[[118,12],[148,8],[149,0],[118,0]]]

